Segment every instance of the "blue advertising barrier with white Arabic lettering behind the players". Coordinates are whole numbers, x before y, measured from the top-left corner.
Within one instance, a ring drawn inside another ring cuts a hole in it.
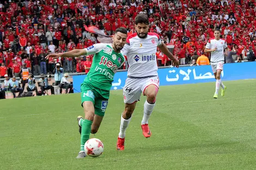
[[[160,68],[159,71],[160,86],[206,83],[216,81],[212,73],[211,66],[185,66]],[[86,75],[73,75],[74,92],[80,92],[80,85]],[[119,71],[114,75],[111,90],[122,89],[127,78],[126,71]],[[240,80],[256,78],[256,62],[242,62],[225,64],[222,72],[222,80]]]

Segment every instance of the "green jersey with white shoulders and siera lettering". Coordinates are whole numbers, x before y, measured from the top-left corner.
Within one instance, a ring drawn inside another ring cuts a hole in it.
[[[90,85],[109,91],[115,72],[121,67],[125,58],[121,53],[114,52],[111,43],[96,43],[86,48],[87,55],[93,56],[92,66],[84,79]]]

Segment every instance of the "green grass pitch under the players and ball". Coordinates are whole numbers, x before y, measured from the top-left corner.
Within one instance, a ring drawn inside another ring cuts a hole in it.
[[[115,149],[124,109],[120,90],[111,91],[97,134],[98,158],[77,160],[83,115],[80,94],[0,100],[0,169],[256,169],[256,80],[161,86],[149,120],[140,127],[145,97],[126,131],[125,150]]]

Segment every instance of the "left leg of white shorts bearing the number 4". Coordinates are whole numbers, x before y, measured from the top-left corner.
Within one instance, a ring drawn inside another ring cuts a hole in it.
[[[141,79],[127,78],[123,89],[124,103],[132,104],[141,99]]]

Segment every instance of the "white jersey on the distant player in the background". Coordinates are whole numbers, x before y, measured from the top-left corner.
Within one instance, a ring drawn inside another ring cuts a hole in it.
[[[227,42],[223,39],[210,39],[205,46],[207,49],[215,49],[216,47],[216,51],[211,52],[211,62],[224,61],[224,48],[228,47]]]

